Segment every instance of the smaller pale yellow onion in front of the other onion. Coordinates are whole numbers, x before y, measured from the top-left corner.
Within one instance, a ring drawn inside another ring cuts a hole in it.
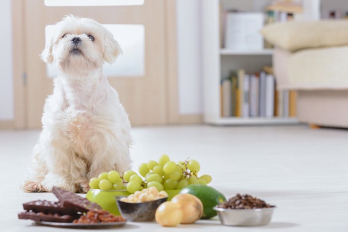
[[[157,208],[155,219],[161,226],[175,227],[182,220],[181,208],[174,202],[166,201]]]

